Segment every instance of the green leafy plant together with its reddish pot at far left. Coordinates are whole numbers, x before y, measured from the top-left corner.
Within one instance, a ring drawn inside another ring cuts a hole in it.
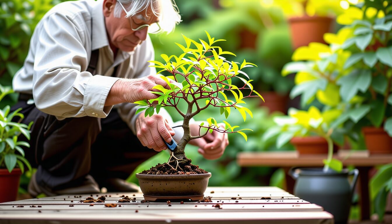
[[[0,101],[8,94],[13,93],[11,87],[0,85]],[[24,158],[21,146],[30,147],[27,142],[18,141],[18,136],[23,134],[30,139],[28,126],[20,124],[24,116],[19,113],[22,108],[10,113],[10,106],[0,109],[0,203],[16,200],[18,194],[20,175],[24,172],[24,165],[31,170],[29,162]],[[19,117],[20,120],[12,120]],[[18,168],[16,168],[16,166]]]

